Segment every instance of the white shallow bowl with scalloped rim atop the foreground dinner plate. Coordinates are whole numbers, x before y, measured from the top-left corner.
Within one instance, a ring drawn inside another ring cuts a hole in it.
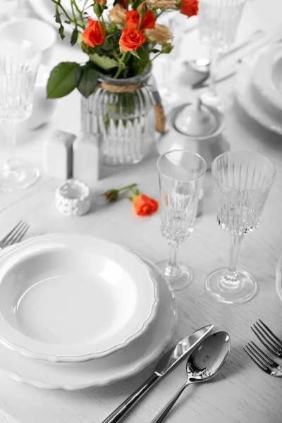
[[[158,305],[140,257],[106,240],[46,235],[0,256],[0,342],[27,357],[104,357],[147,331]]]

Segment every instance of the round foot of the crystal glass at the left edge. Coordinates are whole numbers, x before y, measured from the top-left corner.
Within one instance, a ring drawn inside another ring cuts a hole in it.
[[[39,178],[39,169],[21,159],[0,161],[0,190],[23,190],[34,184]]]

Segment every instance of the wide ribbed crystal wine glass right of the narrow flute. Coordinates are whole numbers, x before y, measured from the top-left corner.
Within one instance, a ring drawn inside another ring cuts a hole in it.
[[[231,235],[228,269],[216,270],[206,280],[209,294],[220,302],[246,302],[256,293],[255,280],[236,264],[243,236],[259,226],[275,174],[269,159],[250,151],[223,153],[212,164],[217,220]]]

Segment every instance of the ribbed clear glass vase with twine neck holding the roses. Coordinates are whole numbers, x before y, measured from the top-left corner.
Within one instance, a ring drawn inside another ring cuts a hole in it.
[[[150,67],[127,79],[101,75],[94,93],[82,97],[82,130],[102,134],[105,164],[139,163],[149,153],[155,126],[150,78]]]

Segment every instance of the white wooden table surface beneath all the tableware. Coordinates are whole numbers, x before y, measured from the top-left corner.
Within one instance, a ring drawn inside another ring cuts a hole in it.
[[[268,31],[278,28],[282,13],[280,3],[279,0],[257,0],[247,4],[239,36],[243,36],[244,28],[250,26],[264,27]],[[183,42],[183,51],[188,51],[191,44]],[[201,51],[200,47],[198,51]],[[54,63],[75,60],[76,54],[66,45],[58,44]],[[220,90],[229,90],[232,86],[233,80],[230,80],[222,84]],[[56,115],[46,128],[30,134],[23,133],[19,137],[20,153],[40,164],[42,139],[48,130],[56,126],[78,132],[79,121],[79,96],[74,93],[59,101]],[[255,341],[250,326],[259,318],[282,337],[282,304],[275,289],[275,269],[282,253],[282,139],[250,121],[237,105],[228,113],[225,135],[233,149],[261,152],[274,162],[277,170],[262,223],[255,233],[246,236],[239,257],[239,266],[255,276],[259,290],[250,302],[237,306],[221,305],[211,300],[204,290],[207,274],[226,265],[229,255],[228,235],[216,223],[214,193],[210,189],[212,178],[207,173],[204,181],[204,213],[197,219],[192,237],[181,245],[179,251],[179,259],[190,264],[195,279],[189,288],[176,294],[179,319],[168,346],[171,347],[200,326],[214,324],[216,329],[230,333],[233,348],[221,375],[209,384],[188,388],[167,421],[281,423],[282,379],[271,378],[260,372],[243,351],[243,346],[250,340]],[[123,243],[154,262],[165,259],[168,257],[168,246],[161,237],[159,213],[147,219],[137,219],[127,199],[104,204],[102,197],[99,197],[108,188],[135,182],[147,195],[158,198],[156,159],[157,153],[152,152],[141,164],[104,168],[104,178],[92,187],[92,209],[89,214],[79,218],[69,219],[57,212],[54,192],[59,180],[49,176],[42,176],[30,190],[1,193],[0,236],[23,218],[31,224],[29,236],[54,232],[85,233]],[[140,374],[111,386],[76,392],[40,390],[0,376],[0,409],[22,423],[102,422],[147,379],[153,368],[154,364]],[[150,422],[184,381],[183,362],[155,386],[126,421]],[[0,422],[4,421],[0,414]]]

